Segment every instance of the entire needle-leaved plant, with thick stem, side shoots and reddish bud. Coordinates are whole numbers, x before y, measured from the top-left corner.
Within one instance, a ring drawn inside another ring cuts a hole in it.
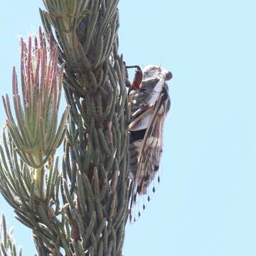
[[[13,100],[3,97],[0,191],[33,231],[38,255],[122,255],[130,114],[118,1],[43,3],[45,32],[21,39],[21,86],[14,69]],[[1,254],[16,255],[4,218],[2,226]]]

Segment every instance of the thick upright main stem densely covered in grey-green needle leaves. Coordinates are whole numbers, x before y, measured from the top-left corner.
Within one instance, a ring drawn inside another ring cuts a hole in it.
[[[43,1],[41,11],[48,38],[55,36],[59,46],[71,106],[63,192],[78,255],[122,255],[130,196],[129,106],[117,53],[118,2],[73,1],[70,9],[70,1]]]

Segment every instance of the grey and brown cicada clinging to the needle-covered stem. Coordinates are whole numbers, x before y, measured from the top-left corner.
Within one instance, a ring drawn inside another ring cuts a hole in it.
[[[149,65],[144,70],[139,66],[134,80],[129,82],[128,98],[131,105],[131,122],[129,123],[129,176],[133,181],[129,218],[134,222],[141,215],[142,209],[135,210],[138,199],[154,193],[155,187],[149,187],[156,178],[159,182],[159,162],[163,151],[163,129],[166,114],[171,107],[167,80],[171,72],[159,66]],[[140,206],[139,206],[140,207]]]

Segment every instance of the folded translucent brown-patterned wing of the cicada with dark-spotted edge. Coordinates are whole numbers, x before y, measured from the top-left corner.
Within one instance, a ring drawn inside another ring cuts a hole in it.
[[[169,111],[169,106],[170,99],[168,93],[161,93],[154,105],[154,112],[151,114],[151,119],[139,153],[137,174],[134,178],[132,198],[130,201],[129,217],[131,222],[137,220],[146,208],[144,201],[150,201],[150,194],[155,191],[154,186],[149,191],[152,181],[156,179],[159,182],[159,162],[163,151],[164,119]],[[143,197],[142,205],[139,202],[140,197]]]

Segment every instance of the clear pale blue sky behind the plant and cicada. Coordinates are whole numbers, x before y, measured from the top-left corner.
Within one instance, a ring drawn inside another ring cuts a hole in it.
[[[11,92],[18,35],[37,30],[40,5],[0,2],[0,95]],[[119,9],[126,62],[174,74],[161,184],[127,225],[124,256],[255,256],[256,2],[120,0]],[[17,245],[33,255],[30,231],[0,203]]]

